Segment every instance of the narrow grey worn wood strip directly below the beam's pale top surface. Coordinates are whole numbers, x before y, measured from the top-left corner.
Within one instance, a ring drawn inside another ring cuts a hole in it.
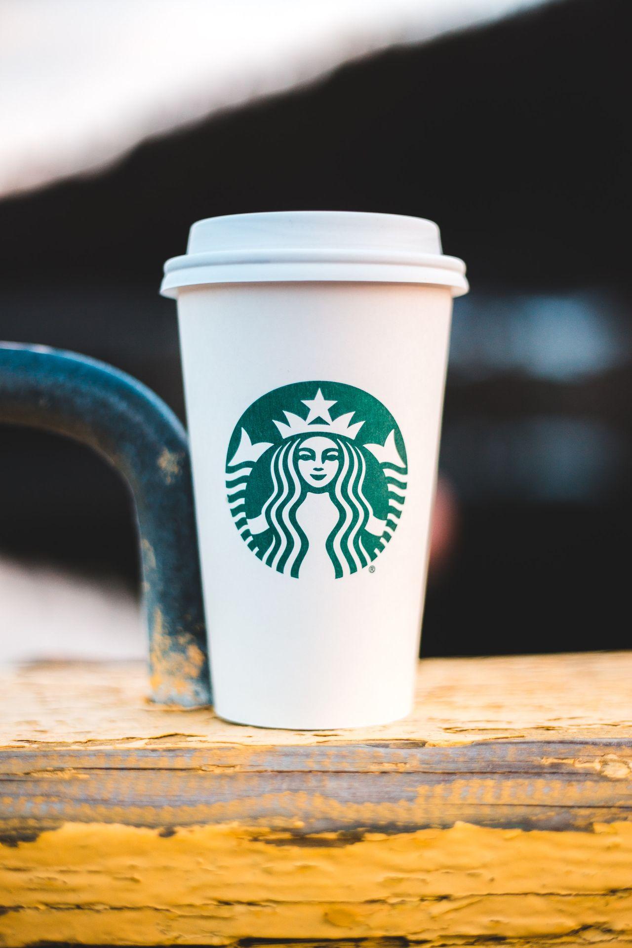
[[[309,738],[309,736],[308,736]],[[166,738],[161,738],[166,739]],[[602,740],[523,738],[477,740],[471,744],[437,746],[423,741],[393,740],[326,744],[274,744],[243,747],[112,747],[87,742],[81,746],[54,741],[57,769],[160,770],[189,773],[266,774],[337,772],[354,774],[576,774],[622,779],[632,771],[632,745],[621,738]],[[37,749],[32,749],[36,747]],[[25,744],[2,750],[5,775],[46,775],[51,743]]]

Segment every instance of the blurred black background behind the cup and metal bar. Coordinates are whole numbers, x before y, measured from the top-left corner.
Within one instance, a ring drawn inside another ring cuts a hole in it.
[[[465,260],[442,434],[454,530],[423,654],[627,647],[632,280],[626,0],[402,46],[0,203],[0,337],[97,356],[184,417],[163,261],[253,210],[429,217]],[[0,431],[0,552],[136,588],[87,450]]]

